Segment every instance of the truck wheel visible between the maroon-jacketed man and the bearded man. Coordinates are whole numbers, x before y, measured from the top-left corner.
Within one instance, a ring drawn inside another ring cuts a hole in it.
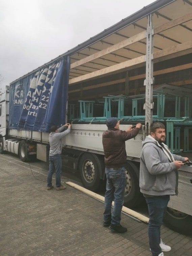
[[[141,201],[141,193],[137,175],[135,174],[132,166],[128,163],[126,168],[126,187],[124,204],[129,207],[139,205]]]

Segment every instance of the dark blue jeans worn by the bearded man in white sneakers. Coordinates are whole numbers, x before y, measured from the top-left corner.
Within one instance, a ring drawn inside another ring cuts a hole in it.
[[[160,229],[163,222],[163,215],[170,200],[170,196],[146,197],[149,211],[149,246],[153,256],[158,256],[162,250],[160,247]]]

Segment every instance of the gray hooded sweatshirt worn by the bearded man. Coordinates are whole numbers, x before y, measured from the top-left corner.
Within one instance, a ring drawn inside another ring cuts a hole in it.
[[[178,194],[178,171],[173,161],[185,158],[171,154],[168,146],[161,144],[150,135],[142,142],[139,185],[145,195]]]

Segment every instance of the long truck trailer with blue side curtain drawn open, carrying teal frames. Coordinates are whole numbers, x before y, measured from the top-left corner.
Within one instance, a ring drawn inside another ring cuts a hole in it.
[[[126,142],[125,204],[140,204],[142,141],[153,121],[166,125],[172,153],[192,160],[192,1],[158,0],[6,86],[0,95],[0,153],[47,161],[51,125],[72,123],[62,161],[87,189],[105,179],[106,119],[120,129],[142,123]],[[179,195],[164,221],[192,230],[192,167],[179,170]]]

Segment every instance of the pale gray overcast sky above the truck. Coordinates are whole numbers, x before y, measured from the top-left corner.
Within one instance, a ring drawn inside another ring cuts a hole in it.
[[[0,87],[153,0],[1,0]]]

